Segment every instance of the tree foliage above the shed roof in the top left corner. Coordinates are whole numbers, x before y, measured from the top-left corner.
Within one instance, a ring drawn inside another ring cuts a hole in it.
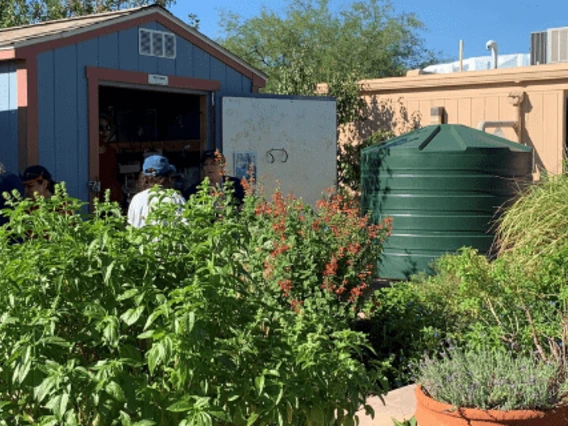
[[[150,4],[167,7],[173,3],[175,0],[0,0],[0,28]]]

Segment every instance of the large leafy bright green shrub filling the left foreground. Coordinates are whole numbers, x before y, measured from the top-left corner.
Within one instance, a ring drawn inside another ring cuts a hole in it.
[[[345,295],[321,285],[343,244],[331,226],[354,216],[312,227],[319,216],[290,205],[250,224],[270,207],[257,201],[238,215],[202,192],[181,212],[160,205],[142,229],[106,202],[68,214],[82,204],[61,188],[16,203],[0,229],[1,424],[353,424],[382,392],[349,327],[362,284],[338,267],[329,282],[347,279]],[[289,225],[281,257],[276,220]],[[349,259],[366,268],[365,256]]]

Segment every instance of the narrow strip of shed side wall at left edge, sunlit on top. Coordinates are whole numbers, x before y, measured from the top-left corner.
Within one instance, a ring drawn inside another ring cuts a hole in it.
[[[0,62],[0,163],[18,172],[18,82],[15,62]]]

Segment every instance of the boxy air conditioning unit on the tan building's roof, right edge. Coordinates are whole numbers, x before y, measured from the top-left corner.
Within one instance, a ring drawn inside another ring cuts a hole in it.
[[[568,62],[568,27],[531,33],[531,65]]]

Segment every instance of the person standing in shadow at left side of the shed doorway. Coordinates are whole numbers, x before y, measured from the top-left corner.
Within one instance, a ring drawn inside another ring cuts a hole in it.
[[[122,187],[118,181],[118,161],[116,152],[110,145],[113,127],[110,117],[101,114],[99,117],[99,179],[101,194],[110,189],[110,201],[122,203]]]

